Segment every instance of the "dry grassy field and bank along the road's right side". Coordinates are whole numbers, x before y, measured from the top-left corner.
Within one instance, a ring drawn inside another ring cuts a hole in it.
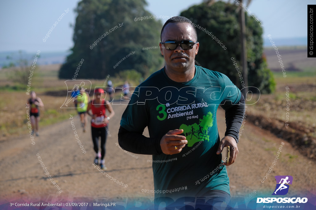
[[[284,124],[298,124],[306,128],[307,135],[316,137],[316,68],[286,72],[286,77],[283,77],[282,72],[273,74],[276,79],[276,92],[260,94],[258,102],[258,94],[254,95],[248,104],[256,103],[248,106],[247,113],[264,115],[283,121]],[[289,89],[288,93],[286,87]],[[288,122],[286,118],[289,119]]]

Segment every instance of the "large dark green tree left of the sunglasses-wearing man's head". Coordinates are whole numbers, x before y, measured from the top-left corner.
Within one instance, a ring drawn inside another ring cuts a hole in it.
[[[104,78],[126,69],[135,69],[147,76],[161,67],[163,59],[159,49],[142,50],[143,47],[158,46],[160,31],[157,28],[162,27],[157,19],[135,21],[135,17],[151,15],[144,9],[146,5],[145,0],[80,1],[76,8],[74,46],[59,71],[59,78],[71,79],[81,59],[84,61],[77,78]],[[93,46],[97,40],[97,45]]]

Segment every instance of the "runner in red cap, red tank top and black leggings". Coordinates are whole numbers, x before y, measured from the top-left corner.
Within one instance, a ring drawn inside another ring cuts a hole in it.
[[[93,149],[95,151],[94,164],[98,164],[100,158],[100,168],[106,170],[105,167],[105,143],[106,137],[109,133],[109,120],[114,116],[114,111],[110,102],[101,100],[101,94],[105,92],[101,88],[94,90],[93,100],[88,103],[87,113],[92,117],[91,119],[91,134],[93,141]],[[91,110],[91,113],[89,112]],[[106,116],[106,110],[110,113]],[[99,157],[99,137],[101,138],[101,156]]]

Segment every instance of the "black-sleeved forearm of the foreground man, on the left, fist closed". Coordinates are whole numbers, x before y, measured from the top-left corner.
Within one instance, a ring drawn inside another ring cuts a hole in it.
[[[130,132],[120,126],[119,145],[126,151],[143,155],[159,155],[162,153],[159,138],[149,138],[141,133]]]

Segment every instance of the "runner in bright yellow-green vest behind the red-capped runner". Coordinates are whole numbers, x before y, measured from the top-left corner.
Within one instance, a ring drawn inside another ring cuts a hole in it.
[[[89,95],[85,93],[83,90],[81,90],[78,95],[80,97],[77,97],[74,101],[75,106],[77,108],[77,112],[80,116],[81,120],[81,127],[83,128],[83,132],[86,132],[86,122],[87,122],[87,108],[88,108],[88,102],[89,102]]]

